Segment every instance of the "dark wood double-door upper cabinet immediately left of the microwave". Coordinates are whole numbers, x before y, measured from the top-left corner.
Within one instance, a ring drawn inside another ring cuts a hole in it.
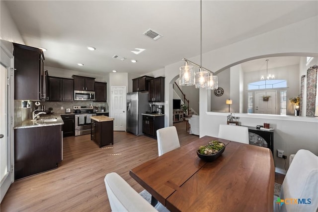
[[[48,77],[47,101],[61,102],[74,100],[73,80],[59,77]]]

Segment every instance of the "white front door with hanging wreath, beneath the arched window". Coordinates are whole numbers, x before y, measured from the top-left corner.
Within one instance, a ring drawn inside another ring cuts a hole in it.
[[[270,96],[263,101],[263,96]],[[255,113],[276,114],[276,91],[255,92]]]

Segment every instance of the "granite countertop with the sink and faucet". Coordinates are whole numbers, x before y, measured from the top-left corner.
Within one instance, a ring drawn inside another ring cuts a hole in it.
[[[70,114],[70,113],[68,113]],[[61,118],[60,114],[41,114],[40,118],[50,118],[57,117],[56,121],[41,121],[28,119],[23,121],[21,124],[16,125],[13,129],[22,129],[22,128],[31,128],[31,127],[42,127],[42,126],[54,126],[54,125],[62,125],[64,121]]]

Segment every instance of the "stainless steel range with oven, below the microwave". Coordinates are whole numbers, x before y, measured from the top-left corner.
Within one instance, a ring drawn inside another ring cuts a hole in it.
[[[93,106],[73,106],[75,113],[75,136],[90,134],[90,117],[93,113]]]

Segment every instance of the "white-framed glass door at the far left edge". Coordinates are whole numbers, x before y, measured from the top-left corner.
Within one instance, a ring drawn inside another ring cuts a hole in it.
[[[8,111],[12,113],[13,98],[11,96],[12,86],[8,82],[13,82],[10,78],[11,66],[13,66],[13,56],[1,46],[0,65],[0,202],[2,201],[9,186],[13,182],[13,142],[11,142],[12,127],[8,122]]]

